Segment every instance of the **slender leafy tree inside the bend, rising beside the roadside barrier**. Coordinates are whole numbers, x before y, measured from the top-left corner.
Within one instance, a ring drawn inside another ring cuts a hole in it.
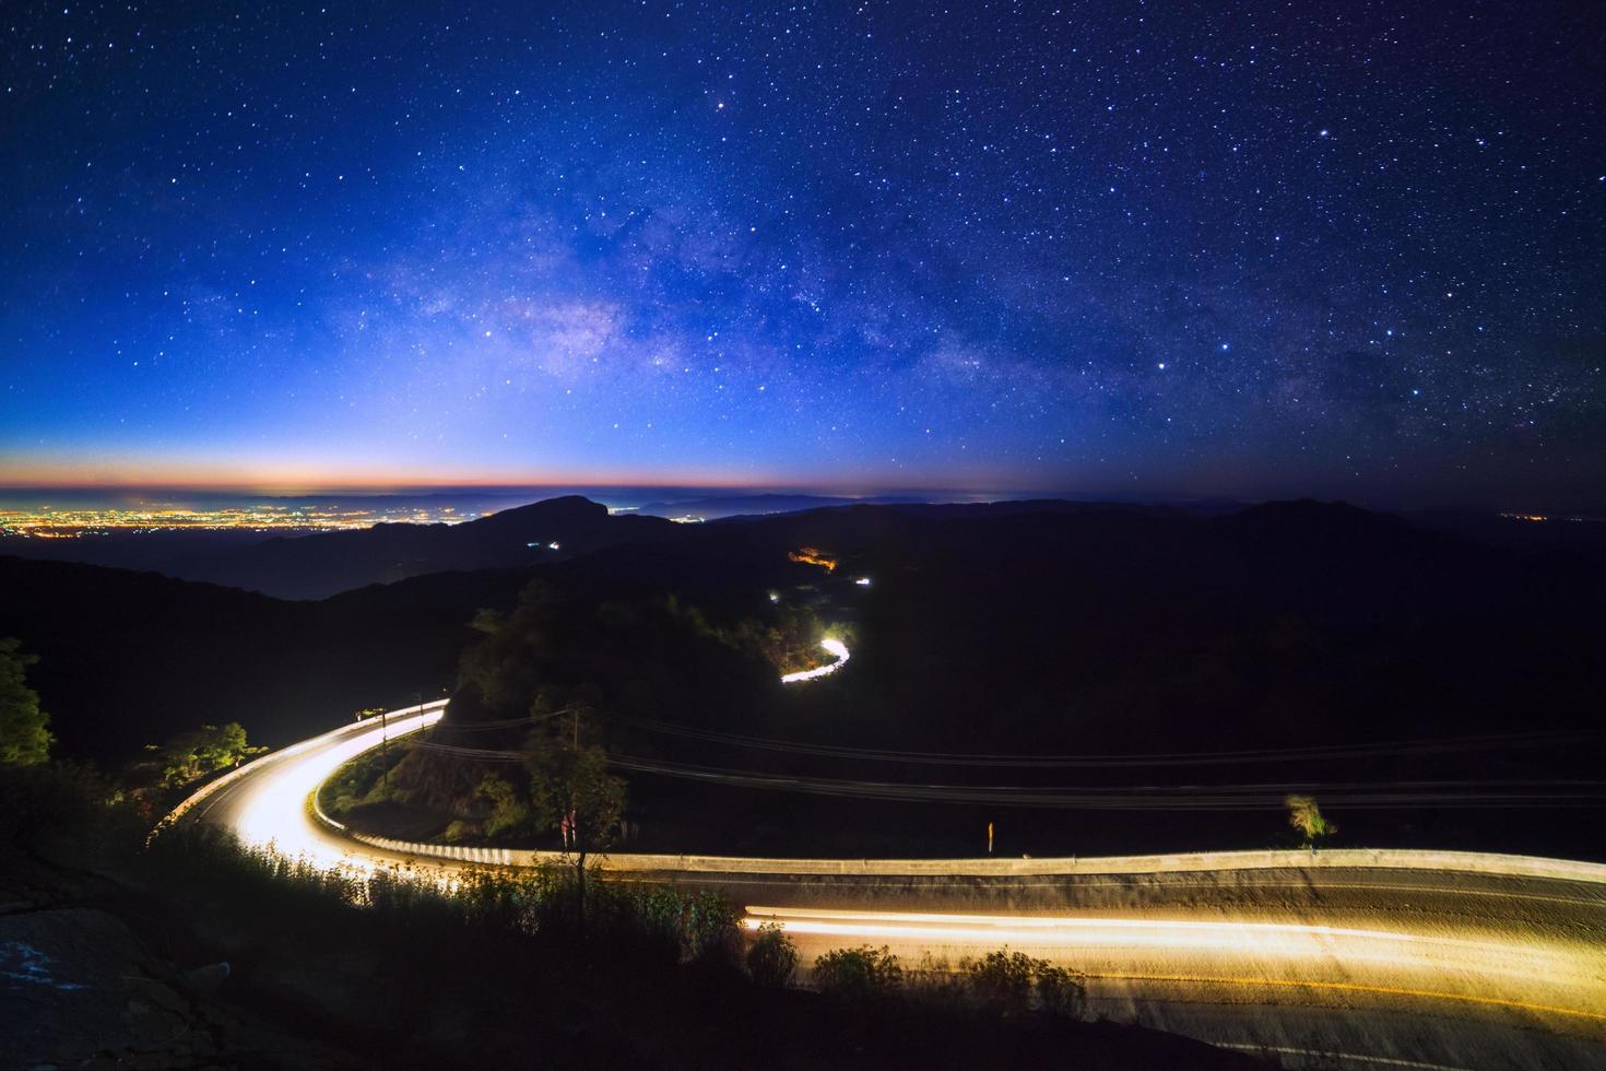
[[[525,742],[530,772],[530,811],[564,838],[575,861],[575,891],[581,915],[586,904],[586,857],[605,851],[625,816],[625,782],[607,772],[607,751],[580,740],[581,711],[548,718]]]

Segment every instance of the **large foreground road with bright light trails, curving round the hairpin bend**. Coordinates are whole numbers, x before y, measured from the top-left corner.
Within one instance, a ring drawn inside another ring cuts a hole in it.
[[[434,724],[392,711],[265,755],[170,821],[358,869],[530,864],[546,853],[358,840],[315,812],[340,764]],[[448,853],[442,857],[430,853]],[[1606,867],[1463,853],[798,861],[610,856],[724,890],[805,963],[887,944],[906,963],[1001,946],[1089,976],[1095,1013],[1266,1052],[1285,1066],[1606,1068]]]

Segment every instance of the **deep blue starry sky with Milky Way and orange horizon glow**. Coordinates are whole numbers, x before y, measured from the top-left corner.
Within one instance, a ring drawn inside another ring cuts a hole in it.
[[[8,3],[0,483],[1606,504],[1596,3]]]

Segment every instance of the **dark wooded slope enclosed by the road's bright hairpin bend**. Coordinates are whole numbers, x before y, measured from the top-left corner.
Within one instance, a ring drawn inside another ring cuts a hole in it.
[[[429,743],[353,759],[320,803],[390,837],[560,848],[583,885],[586,861],[634,829],[610,755],[662,753],[654,727],[665,723],[740,726],[782,698],[782,673],[829,660],[813,609],[779,596],[755,607],[715,623],[675,596],[596,602],[535,580],[514,610],[475,617],[450,718]]]

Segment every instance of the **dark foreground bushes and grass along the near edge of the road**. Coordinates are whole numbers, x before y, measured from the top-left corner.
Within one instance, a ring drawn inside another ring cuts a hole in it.
[[[1253,1066],[1021,1004],[1013,954],[943,984],[904,971],[914,981],[896,989],[878,984],[899,973],[880,955],[869,988],[811,992],[785,935],[745,943],[710,891],[593,877],[581,893],[570,867],[469,870],[446,888],[426,867],[331,872],[206,827],[145,846],[148,830],[135,800],[84,768],[0,771],[0,869],[27,875],[24,894],[116,912],[148,962],[173,965],[169,984],[223,979],[191,1002],[279,1023],[318,1047],[318,1066]],[[866,957],[837,962],[846,976]],[[1041,992],[1041,970],[1025,971]],[[305,1050],[228,1058],[305,1066]]]

